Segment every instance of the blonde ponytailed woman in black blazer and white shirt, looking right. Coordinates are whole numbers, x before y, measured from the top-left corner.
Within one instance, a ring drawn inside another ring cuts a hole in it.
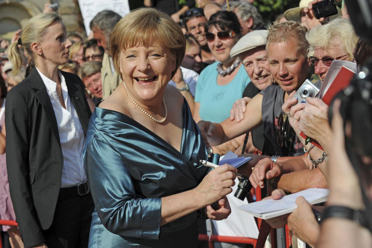
[[[82,152],[90,109],[79,77],[58,70],[68,61],[66,35],[57,13],[41,13],[9,52],[15,74],[23,50],[35,64],[9,91],[5,112],[10,196],[25,247],[88,244],[93,201]]]

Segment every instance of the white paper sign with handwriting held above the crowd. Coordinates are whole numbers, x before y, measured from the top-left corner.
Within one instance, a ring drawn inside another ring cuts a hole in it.
[[[130,12],[128,0],[78,0],[81,16],[87,35],[90,34],[89,23],[102,10],[112,10],[121,16]]]

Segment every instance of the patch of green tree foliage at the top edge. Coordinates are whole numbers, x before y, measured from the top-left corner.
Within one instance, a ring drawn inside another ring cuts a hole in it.
[[[298,7],[298,4],[299,0],[255,0],[253,2],[262,18],[268,23],[274,21],[276,16],[283,14],[287,9]]]

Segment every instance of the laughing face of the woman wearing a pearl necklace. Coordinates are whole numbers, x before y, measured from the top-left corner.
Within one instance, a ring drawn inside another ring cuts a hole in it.
[[[160,44],[132,47],[120,54],[120,71],[132,98],[151,105],[164,95],[176,62],[169,48]]]

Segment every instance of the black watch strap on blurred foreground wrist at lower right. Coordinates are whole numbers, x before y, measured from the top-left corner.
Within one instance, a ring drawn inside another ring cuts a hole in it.
[[[329,206],[327,207],[323,214],[321,221],[328,218],[341,218],[341,219],[348,219],[353,220],[357,224],[361,226],[366,226],[365,218],[363,218],[362,210],[355,210],[351,209],[350,207],[345,206]]]

